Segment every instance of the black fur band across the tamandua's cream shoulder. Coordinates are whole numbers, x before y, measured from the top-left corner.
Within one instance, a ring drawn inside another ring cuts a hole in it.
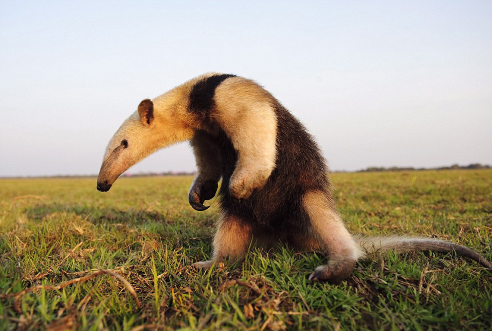
[[[233,74],[218,74],[204,78],[197,82],[190,92],[189,111],[193,113],[208,113],[215,105],[213,97],[215,89],[222,81],[229,77],[235,77]]]

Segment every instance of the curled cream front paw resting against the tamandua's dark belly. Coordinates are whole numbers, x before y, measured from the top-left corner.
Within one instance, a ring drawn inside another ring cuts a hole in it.
[[[253,191],[261,190],[268,181],[271,171],[234,173],[229,182],[229,193],[234,202],[248,199]]]

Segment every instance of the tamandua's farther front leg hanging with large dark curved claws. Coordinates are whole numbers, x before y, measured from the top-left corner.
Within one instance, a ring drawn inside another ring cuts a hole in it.
[[[217,192],[217,183],[220,180],[220,153],[217,146],[205,131],[197,130],[190,141],[195,154],[197,175],[191,184],[188,201],[193,209],[202,211],[205,200],[210,200]]]

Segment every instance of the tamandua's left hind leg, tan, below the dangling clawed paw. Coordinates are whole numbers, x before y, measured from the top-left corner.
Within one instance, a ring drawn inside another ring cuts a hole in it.
[[[208,269],[215,263],[241,260],[248,251],[251,240],[250,224],[239,217],[224,214],[219,219],[213,238],[212,260],[194,263],[193,267]]]

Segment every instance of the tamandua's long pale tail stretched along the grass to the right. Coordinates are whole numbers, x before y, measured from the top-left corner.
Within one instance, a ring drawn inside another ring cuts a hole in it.
[[[399,253],[410,251],[432,251],[432,252],[456,252],[456,254],[467,257],[478,262],[483,267],[492,270],[492,263],[487,261],[480,254],[468,247],[457,245],[452,242],[412,237],[355,237],[362,249],[367,253],[377,253],[379,251],[394,250]]]

